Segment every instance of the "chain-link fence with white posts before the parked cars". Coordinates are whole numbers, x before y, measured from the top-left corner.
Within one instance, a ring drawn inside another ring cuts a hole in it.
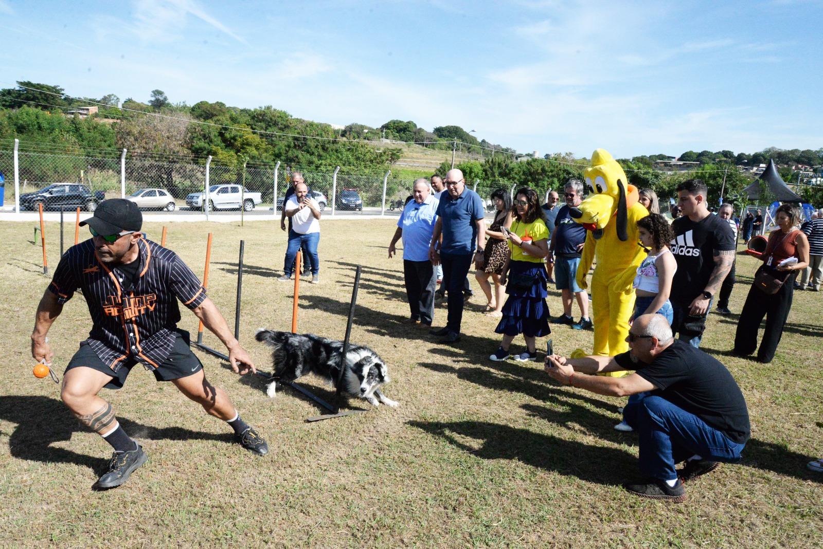
[[[15,184],[14,159],[18,164]],[[300,171],[321,210],[327,215],[399,215],[413,179],[391,173],[346,173],[339,168],[326,172],[317,168],[273,165],[211,164],[202,159],[157,159],[153,155],[78,155],[39,149],[21,143],[20,150],[0,148],[0,172],[6,177],[5,205],[16,204],[19,186],[21,211],[94,211],[107,198],[126,196],[143,210],[237,213],[240,209],[258,215],[277,215],[291,185],[291,175]],[[206,200],[205,185],[209,182]],[[275,196],[277,193],[277,197]]]

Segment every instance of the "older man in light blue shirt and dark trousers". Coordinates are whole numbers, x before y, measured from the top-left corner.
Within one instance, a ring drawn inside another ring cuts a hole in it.
[[[404,322],[427,327],[435,315],[437,278],[434,265],[429,260],[429,247],[435,232],[439,201],[430,194],[425,178],[414,182],[412,192],[414,200],[409,201],[400,214],[398,230],[388,245],[388,258],[392,258],[396,251],[394,245],[402,237],[403,278],[412,310],[412,316]]]

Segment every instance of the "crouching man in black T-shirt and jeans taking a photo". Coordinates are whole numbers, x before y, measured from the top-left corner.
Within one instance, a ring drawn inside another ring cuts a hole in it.
[[[635,319],[630,351],[616,357],[546,357],[545,370],[560,383],[607,396],[643,393],[623,419],[639,441],[640,473],[625,484],[637,496],[680,503],[683,482],[735,463],[751,434],[746,400],[732,374],[714,357],[679,339],[660,315]],[[625,377],[598,372],[635,370]],[[686,465],[675,469],[675,465]]]

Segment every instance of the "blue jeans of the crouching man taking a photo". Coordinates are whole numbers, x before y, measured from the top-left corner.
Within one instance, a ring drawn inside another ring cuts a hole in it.
[[[709,461],[736,463],[744,444],[663,397],[647,394],[623,408],[623,421],[640,439],[640,474],[660,480],[677,478],[675,465],[697,454]]]

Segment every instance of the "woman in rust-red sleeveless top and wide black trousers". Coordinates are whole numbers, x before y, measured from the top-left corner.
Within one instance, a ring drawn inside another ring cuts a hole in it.
[[[766,326],[763,340],[757,350],[757,360],[769,363],[774,358],[774,351],[783,336],[783,325],[786,324],[788,311],[792,308],[794,279],[797,271],[806,269],[809,265],[809,241],[806,235],[797,228],[801,220],[800,206],[797,204],[782,204],[774,214],[778,229],[769,235],[769,241],[763,253],[753,250],[746,252],[755,256],[764,265],[755,273],[755,281],[749,288],[746,304],[740,311],[737,321],[737,333],[734,336],[734,350],[732,353],[747,356],[757,348],[757,330],[760,321],[766,317]],[[794,259],[791,259],[794,258]],[[776,292],[768,292],[760,284],[760,279],[773,279],[783,284]]]

